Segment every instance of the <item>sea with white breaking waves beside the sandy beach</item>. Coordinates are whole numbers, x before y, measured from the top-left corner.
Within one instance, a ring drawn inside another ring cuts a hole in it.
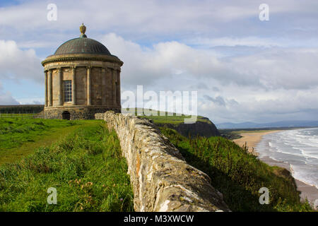
[[[318,128],[266,134],[256,151],[260,159],[267,156],[288,163],[295,179],[318,189]]]

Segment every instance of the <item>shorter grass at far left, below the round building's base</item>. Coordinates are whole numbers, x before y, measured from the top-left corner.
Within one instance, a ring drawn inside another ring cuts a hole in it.
[[[36,148],[50,145],[81,126],[94,120],[67,121],[59,119],[0,119],[0,165],[15,162]]]

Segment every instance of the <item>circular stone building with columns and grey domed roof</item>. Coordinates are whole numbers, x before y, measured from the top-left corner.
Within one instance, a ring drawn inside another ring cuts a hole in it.
[[[120,67],[123,62],[85,35],[42,61],[45,67],[46,119],[94,119],[95,113],[121,111]]]

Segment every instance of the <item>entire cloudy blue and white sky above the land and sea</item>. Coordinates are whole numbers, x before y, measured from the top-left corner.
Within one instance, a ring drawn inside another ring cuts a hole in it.
[[[197,91],[215,123],[317,120],[317,11],[317,0],[1,0],[0,105],[44,103],[40,62],[85,23],[124,61],[123,92]]]

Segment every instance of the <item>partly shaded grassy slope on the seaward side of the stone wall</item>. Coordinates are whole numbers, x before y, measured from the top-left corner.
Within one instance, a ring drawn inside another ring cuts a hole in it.
[[[312,210],[307,202],[300,202],[300,192],[286,169],[266,165],[226,138],[185,138],[172,129],[160,129],[190,165],[211,177],[232,211]],[[259,203],[261,187],[269,189],[269,205]]]

